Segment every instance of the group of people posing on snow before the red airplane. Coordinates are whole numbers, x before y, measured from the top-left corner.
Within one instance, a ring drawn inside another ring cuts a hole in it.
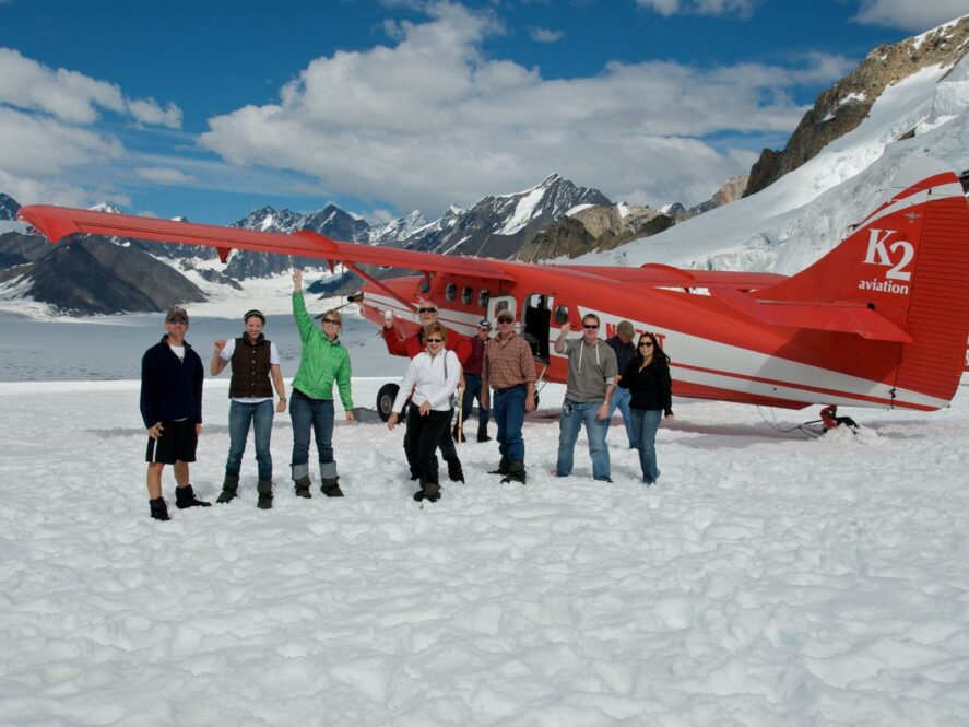
[[[353,421],[350,354],[340,342],[343,318],[339,310],[327,310],[320,326],[314,325],[303,297],[303,273],[293,273],[293,316],[303,344],[299,368],[287,401],[274,343],[263,335],[265,316],[249,310],[244,316],[243,336],[215,341],[209,371],[221,374],[232,367],[229,382],[229,452],[218,503],[237,495],[239,472],[249,430],[253,430],[257,483],[260,508],[272,507],[272,455],[270,439],[273,419],[287,407],[293,426],[292,479],[297,496],[311,497],[309,471],[310,432],[319,457],[320,491],[328,497],[342,497],[340,476],[333,456],[334,387],[348,422]],[[414,500],[436,502],[440,497],[437,452],[447,464],[452,482],[463,482],[464,473],[456,442],[464,439],[464,427],[474,400],[478,403],[478,442],[488,442],[488,421],[497,424],[500,461],[493,474],[501,482],[524,484],[525,448],[522,426],[535,409],[535,366],[531,347],[515,330],[515,317],[498,310],[497,335],[492,324],[478,321],[475,336],[453,337],[438,323],[437,305],[418,302],[421,327],[409,337],[398,335],[393,315],[387,312],[383,340],[389,353],[406,355],[411,362],[399,388],[387,425],[392,431],[406,408],[404,453],[411,479],[418,481]],[[208,507],[196,496],[189,464],[196,460],[202,431],[202,382],[200,356],[185,340],[189,317],[179,306],[165,316],[166,335],[142,359],[141,413],[147,429],[147,491],[151,516],[169,519],[162,496],[162,472],[173,465],[178,508]],[[582,425],[589,439],[594,479],[611,482],[606,445],[608,424],[616,409],[623,415],[629,447],[637,449],[642,481],[653,484],[660,476],[655,457],[655,434],[660,421],[673,417],[669,356],[655,335],[641,333],[634,345],[635,330],[622,321],[616,336],[599,337],[600,321],[594,314],[582,318],[581,338],[569,338],[571,325],[562,326],[555,351],[568,357],[568,383],[559,419],[558,457],[554,473],[572,472],[575,446]],[[273,404],[273,390],[276,394]],[[463,390],[462,400],[457,395]],[[458,422],[451,425],[456,409]]]

